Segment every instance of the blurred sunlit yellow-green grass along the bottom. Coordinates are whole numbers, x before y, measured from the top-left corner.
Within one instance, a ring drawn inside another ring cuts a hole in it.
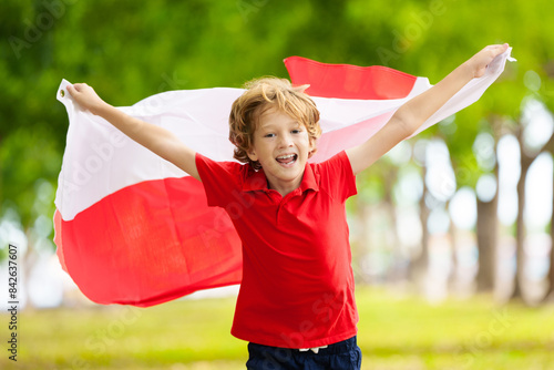
[[[359,288],[357,300],[362,369],[554,369],[552,305],[475,297],[431,306],[370,288]],[[23,311],[18,362],[3,350],[0,369],[245,369],[246,343],[229,335],[234,305],[223,298]]]

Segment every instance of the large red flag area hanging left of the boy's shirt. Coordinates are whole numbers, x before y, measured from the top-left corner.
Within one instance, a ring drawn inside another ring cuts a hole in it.
[[[206,206],[189,176],[142,182],[60,219],[57,244],[75,284],[99,304],[152,306],[242,277],[230,219]]]

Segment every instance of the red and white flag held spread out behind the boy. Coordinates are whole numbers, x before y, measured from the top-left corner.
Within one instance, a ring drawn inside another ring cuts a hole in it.
[[[472,104],[504,70],[509,49],[430,117],[420,131]],[[294,84],[310,84],[322,135],[311,161],[361,144],[410,97],[431,88],[384,66],[324,64],[293,56]],[[99,304],[152,306],[201,289],[239,284],[240,240],[226,213],[207,206],[202,184],[134,143],[58,90],[69,115],[54,215],[58,256]],[[171,91],[120,107],[175,133],[215,161],[234,161],[230,105],[240,89]]]

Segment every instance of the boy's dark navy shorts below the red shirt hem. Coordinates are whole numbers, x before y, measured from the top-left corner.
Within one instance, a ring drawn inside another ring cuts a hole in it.
[[[249,370],[359,370],[361,350],[356,337],[319,349],[301,352],[297,349],[248,343]]]

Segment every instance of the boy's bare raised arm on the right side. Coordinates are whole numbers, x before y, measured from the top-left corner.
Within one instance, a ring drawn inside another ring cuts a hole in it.
[[[355,175],[369,167],[398,143],[413,134],[468,82],[482,76],[486,65],[506,49],[506,43],[484,48],[452,71],[441,82],[400,106],[389,122],[367,142],[347,150],[346,153]]]

